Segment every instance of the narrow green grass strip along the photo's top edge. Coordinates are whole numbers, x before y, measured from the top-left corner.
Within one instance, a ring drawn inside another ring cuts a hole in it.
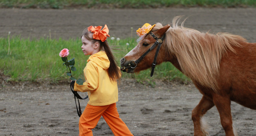
[[[256,0],[1,0],[0,8],[256,7]]]

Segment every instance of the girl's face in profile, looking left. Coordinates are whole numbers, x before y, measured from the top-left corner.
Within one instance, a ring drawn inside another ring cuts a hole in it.
[[[97,50],[98,42],[93,43],[93,42],[87,40],[84,36],[82,36],[81,41],[82,41],[81,48],[82,48],[84,55],[93,55],[93,54],[99,52]]]

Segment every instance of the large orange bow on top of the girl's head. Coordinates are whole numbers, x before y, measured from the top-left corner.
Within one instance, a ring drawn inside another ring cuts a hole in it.
[[[108,34],[108,26],[105,25],[104,28],[102,30],[100,30],[102,28],[102,26],[90,26],[88,27],[88,31],[91,31],[93,33],[93,39],[95,40],[101,40],[102,42],[104,42],[107,37],[110,37]]]

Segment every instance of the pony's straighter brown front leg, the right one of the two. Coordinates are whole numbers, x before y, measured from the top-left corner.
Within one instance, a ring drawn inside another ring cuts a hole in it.
[[[220,114],[221,125],[225,130],[226,136],[237,136],[236,130],[233,128],[232,125],[230,98],[228,96],[221,96],[215,94],[213,96],[213,102]]]

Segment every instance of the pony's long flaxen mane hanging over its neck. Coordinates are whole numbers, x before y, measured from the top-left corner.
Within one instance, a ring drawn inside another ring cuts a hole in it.
[[[166,32],[165,47],[169,54],[177,57],[183,74],[201,85],[217,90],[216,78],[219,74],[221,57],[227,51],[236,53],[233,47],[241,47],[246,40],[229,33],[209,34],[178,26],[180,16],[172,20]],[[157,23],[154,30],[163,28]]]

